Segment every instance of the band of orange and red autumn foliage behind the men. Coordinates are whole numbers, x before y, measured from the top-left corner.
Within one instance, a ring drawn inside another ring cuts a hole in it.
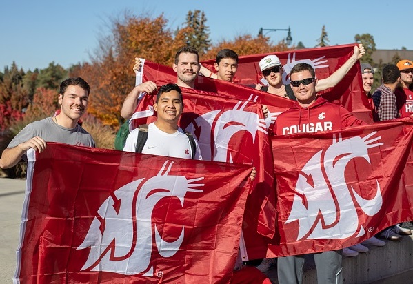
[[[88,113],[116,131],[123,123],[121,105],[134,86],[135,57],[170,66],[183,45],[199,49],[201,60],[214,59],[223,48],[239,55],[288,49],[283,41],[273,45],[268,37],[250,34],[211,44],[206,21],[203,12],[189,11],[185,23],[172,30],[163,14],[149,17],[125,13],[123,19],[111,20],[110,34],[99,40],[89,62],[72,65],[69,70],[50,63],[45,70],[29,70],[27,74],[12,65],[10,70],[0,73],[1,128],[8,128],[13,120],[24,115],[25,121],[52,115],[58,107],[57,86],[61,79],[82,77],[91,86]]]

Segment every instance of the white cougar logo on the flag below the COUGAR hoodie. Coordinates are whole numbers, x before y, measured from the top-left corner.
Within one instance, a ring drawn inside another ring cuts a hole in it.
[[[345,239],[353,236],[359,229],[359,222],[355,221],[359,220],[359,217],[352,201],[352,194],[365,214],[373,216],[379,212],[383,202],[379,182],[376,181],[374,198],[363,199],[351,186],[347,186],[344,176],[345,167],[352,159],[359,157],[370,163],[368,149],[383,145],[373,143],[381,137],[368,140],[374,134],[376,132],[363,139],[359,136],[346,140],[339,138],[338,141],[333,139],[333,144],[325,150],[324,156],[321,150],[304,165],[296,184],[297,194],[294,194],[290,216],[285,221],[290,223],[299,220],[297,240]],[[332,190],[323,176],[322,158]],[[363,234],[365,229],[360,225],[358,236]]]

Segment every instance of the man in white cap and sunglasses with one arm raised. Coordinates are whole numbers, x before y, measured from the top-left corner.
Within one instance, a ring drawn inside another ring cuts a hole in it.
[[[363,54],[365,54],[363,45],[355,45],[352,57],[345,61],[345,63],[333,74],[331,74],[330,77],[320,79],[316,86],[316,92],[321,92],[337,85],[337,83],[345,77],[345,74],[350,71],[352,66],[363,56]],[[263,78],[268,82],[268,86],[257,84],[256,89],[263,92],[268,92],[270,94],[276,94],[280,97],[293,99],[294,101],[296,100],[290,85],[283,85],[283,66],[276,55],[268,55],[261,59],[261,61],[259,61],[259,67]]]

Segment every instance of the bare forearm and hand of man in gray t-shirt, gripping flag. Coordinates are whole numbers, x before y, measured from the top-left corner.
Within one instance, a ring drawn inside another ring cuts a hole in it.
[[[46,141],[41,139],[39,136],[36,136],[26,142],[20,143],[16,147],[6,148],[3,151],[3,154],[1,154],[0,168],[12,168],[21,160],[23,154],[30,148],[33,148],[41,153],[46,149]]]

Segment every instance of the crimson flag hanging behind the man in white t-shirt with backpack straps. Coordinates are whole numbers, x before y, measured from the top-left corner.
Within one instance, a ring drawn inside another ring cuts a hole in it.
[[[183,114],[179,125],[192,133],[199,143],[204,160],[249,163],[257,176],[245,209],[243,236],[249,240],[275,233],[274,170],[268,130],[261,105],[254,101],[232,99],[222,95],[182,88]],[[134,128],[154,121],[154,96],[145,95],[134,114]],[[141,118],[137,114],[142,114]],[[257,231],[259,234],[257,234]],[[265,249],[263,252],[265,255]],[[243,253],[244,260],[247,259]]]

